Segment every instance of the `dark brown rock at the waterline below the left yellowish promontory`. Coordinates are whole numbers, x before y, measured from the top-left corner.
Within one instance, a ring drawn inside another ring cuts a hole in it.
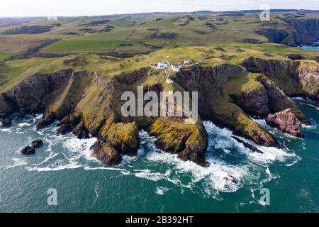
[[[93,150],[93,155],[95,155],[97,159],[101,160],[103,164],[117,165],[121,162],[121,155],[116,149],[112,148],[107,143],[96,141],[96,143],[94,143],[91,147],[91,150]]]

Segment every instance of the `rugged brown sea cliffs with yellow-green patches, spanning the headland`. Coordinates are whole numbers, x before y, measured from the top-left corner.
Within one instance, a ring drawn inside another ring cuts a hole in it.
[[[291,95],[318,100],[318,64],[311,61],[263,60],[248,57],[242,66],[220,64],[194,66],[174,76],[174,84],[164,74],[140,68],[113,76],[102,72],[61,70],[35,74],[0,95],[0,117],[43,111],[38,129],[60,120],[57,133],[89,134],[99,138],[93,149],[103,163],[117,164],[121,155],[136,155],[140,129],[157,138],[156,145],[181,160],[207,166],[207,133],[201,119],[211,120],[233,130],[236,135],[258,145],[278,146],[276,139],[249,115],[267,116],[292,109],[303,123],[306,116],[296,107]],[[146,91],[198,92],[196,124],[186,125],[184,117],[124,117],[123,92]],[[287,96],[288,94],[289,96]]]

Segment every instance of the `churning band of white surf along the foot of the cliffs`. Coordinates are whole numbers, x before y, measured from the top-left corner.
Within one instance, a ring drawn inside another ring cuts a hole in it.
[[[167,184],[180,188],[181,192],[190,190],[206,197],[223,199],[222,193],[237,192],[244,185],[252,193],[262,186],[279,177],[271,172],[274,162],[282,165],[294,165],[299,157],[288,149],[265,148],[255,145],[263,154],[252,153],[244,145],[231,137],[232,132],[227,128],[219,128],[210,121],[204,126],[208,132],[208,152],[206,160],[211,162],[209,167],[200,167],[194,162],[183,162],[177,155],[164,153],[155,147],[155,138],[146,131],[140,131],[140,149],[137,157],[123,157],[123,162],[115,167],[101,165],[92,157],[90,147],[96,138],[79,140],[72,134],[55,135],[56,124],[35,131],[39,116],[35,118],[13,119],[11,131],[1,130],[2,133],[22,133],[26,145],[35,138],[44,140],[43,148],[36,155],[22,156],[21,148],[16,150],[15,157],[7,168],[24,167],[28,171],[62,171],[82,168],[87,171],[116,171],[120,175],[132,175],[140,179],[157,182],[155,193],[169,193]],[[258,120],[264,125],[263,120]],[[272,131],[272,133],[278,133]],[[282,133],[281,136],[285,136]],[[160,166],[160,167],[159,167]],[[162,186],[161,184],[165,185]],[[252,196],[254,198],[254,196]],[[257,202],[257,201],[256,201]]]

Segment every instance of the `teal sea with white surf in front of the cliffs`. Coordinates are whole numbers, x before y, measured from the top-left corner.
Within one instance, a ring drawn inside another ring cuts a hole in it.
[[[95,138],[56,136],[56,123],[35,131],[40,115],[15,117],[11,128],[0,129],[0,211],[318,212],[319,110],[311,101],[296,103],[313,124],[303,128],[305,138],[256,120],[284,147],[257,146],[264,154],[251,153],[230,137],[231,131],[205,122],[208,168],[163,153],[145,131],[140,131],[138,157],[101,165],[89,150]],[[23,156],[21,148],[37,138],[44,140],[43,148]],[[57,190],[56,206],[47,204],[51,188]],[[269,205],[259,201],[264,188]]]

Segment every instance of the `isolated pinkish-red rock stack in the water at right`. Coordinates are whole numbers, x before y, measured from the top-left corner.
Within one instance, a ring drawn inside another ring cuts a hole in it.
[[[286,109],[276,114],[269,114],[267,117],[267,123],[270,126],[279,128],[284,133],[289,133],[302,138],[303,133],[301,131],[301,121],[296,118],[292,109]]]

